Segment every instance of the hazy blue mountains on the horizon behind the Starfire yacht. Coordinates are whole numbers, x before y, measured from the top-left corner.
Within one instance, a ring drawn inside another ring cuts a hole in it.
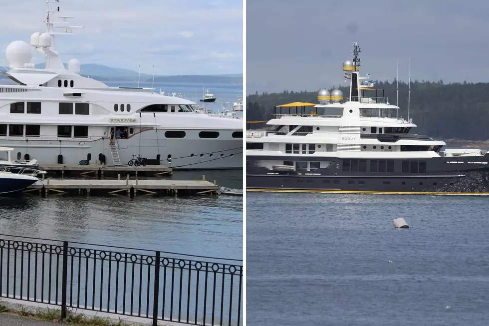
[[[64,64],[67,66],[67,64]],[[38,63],[36,68],[44,68],[44,63]],[[101,81],[137,81],[138,72],[130,69],[108,67],[103,64],[85,63],[81,65],[81,74]],[[141,73],[140,80],[151,82],[152,75]],[[224,83],[224,84],[242,84],[243,74],[220,74],[220,75],[178,75],[178,76],[162,76],[155,75],[155,82],[168,83]]]

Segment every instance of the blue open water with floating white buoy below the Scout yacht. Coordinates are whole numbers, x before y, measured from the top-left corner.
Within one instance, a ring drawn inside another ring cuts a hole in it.
[[[488,201],[249,193],[247,325],[488,325]]]

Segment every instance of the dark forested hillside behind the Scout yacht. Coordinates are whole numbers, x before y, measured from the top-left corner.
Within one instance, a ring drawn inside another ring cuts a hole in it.
[[[340,85],[344,96],[349,84]],[[389,103],[396,104],[396,82],[380,82]],[[330,88],[330,91],[333,88]],[[246,120],[269,120],[273,106],[294,101],[317,103],[317,91],[284,91],[246,97]],[[399,116],[408,116],[408,83],[399,81]],[[489,139],[489,83],[412,81],[410,117],[418,128],[413,133],[438,139]],[[253,126],[253,124],[249,124]]]

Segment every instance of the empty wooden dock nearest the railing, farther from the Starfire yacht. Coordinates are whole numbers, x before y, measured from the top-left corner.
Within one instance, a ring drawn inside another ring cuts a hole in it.
[[[39,180],[24,192],[47,196],[52,194],[79,195],[214,195],[219,187],[216,183],[201,180]]]

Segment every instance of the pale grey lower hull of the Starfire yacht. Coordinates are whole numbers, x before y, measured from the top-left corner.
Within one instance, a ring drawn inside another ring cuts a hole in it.
[[[185,138],[165,138],[165,129],[146,131],[128,139],[117,139],[120,162],[126,165],[133,154],[141,154],[148,159],[157,159],[160,155],[162,164],[168,165],[171,155],[171,166],[175,169],[234,169],[243,167],[243,140],[233,139],[232,130],[222,130],[217,139],[201,139],[199,130],[188,130]],[[229,133],[229,135],[227,135]],[[139,139],[139,135],[142,135]],[[3,139],[2,139],[3,138]],[[19,137],[20,138],[20,137]],[[221,140],[222,139],[222,140]],[[13,147],[13,158],[36,159],[39,165],[57,164],[58,155],[63,156],[63,164],[78,164],[91,154],[90,163],[99,160],[99,154],[105,155],[106,164],[114,165],[107,137],[89,139],[33,140],[1,137],[0,146]],[[19,154],[20,153],[20,154]],[[193,154],[193,155],[192,155]],[[202,154],[202,156],[201,156]]]

